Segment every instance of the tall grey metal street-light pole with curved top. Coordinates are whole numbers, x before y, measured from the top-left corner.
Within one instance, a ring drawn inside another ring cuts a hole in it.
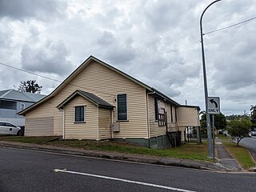
[[[205,60],[205,52],[203,47],[203,33],[202,33],[202,16],[205,14],[206,10],[213,5],[215,2],[220,2],[222,0],[217,0],[211,2],[209,6],[203,10],[201,18],[200,18],[200,32],[201,32],[201,45],[202,45],[202,70],[203,70],[203,81],[204,81],[204,88],[205,88],[205,103],[206,103],[206,126],[207,126],[207,137],[208,137],[208,158],[214,158],[213,153],[213,145],[212,145],[212,137],[211,137],[211,130],[210,130],[210,114],[208,113],[208,90],[207,90],[207,80],[206,80],[206,60]]]

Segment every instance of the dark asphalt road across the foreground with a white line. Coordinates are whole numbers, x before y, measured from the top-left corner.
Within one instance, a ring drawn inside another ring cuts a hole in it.
[[[0,147],[0,191],[255,191],[227,174]]]

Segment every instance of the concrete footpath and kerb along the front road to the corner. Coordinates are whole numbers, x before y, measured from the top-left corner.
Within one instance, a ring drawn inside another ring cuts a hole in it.
[[[178,159],[178,158],[162,158],[143,154],[121,154],[116,152],[99,151],[99,150],[82,150],[70,147],[60,147],[60,146],[46,146],[37,145],[24,142],[4,142],[0,141],[0,147],[12,147],[18,149],[26,150],[40,150],[45,152],[53,152],[59,154],[72,154],[81,155],[86,157],[94,158],[107,158],[115,159],[121,161],[129,162],[142,162],[150,164],[158,164],[164,166],[181,166],[187,168],[194,168],[200,170],[214,170],[214,171],[243,171],[238,162],[232,158],[232,156],[225,150],[221,142],[217,140],[216,150],[218,153],[218,162],[204,162],[188,159]]]

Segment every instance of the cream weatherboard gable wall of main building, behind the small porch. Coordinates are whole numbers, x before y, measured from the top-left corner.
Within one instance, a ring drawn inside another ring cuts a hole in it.
[[[63,122],[62,111],[56,106],[75,90],[93,93],[113,106],[117,106],[117,94],[127,94],[128,121],[120,122],[120,132],[114,133],[114,138],[147,138],[145,88],[98,62],[89,63],[54,95],[54,102],[50,107],[54,109],[55,135],[62,135]],[[35,108],[30,113],[37,110]],[[117,121],[116,109],[113,118]]]

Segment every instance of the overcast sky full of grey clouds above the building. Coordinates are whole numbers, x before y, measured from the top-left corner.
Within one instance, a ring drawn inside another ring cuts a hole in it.
[[[204,105],[199,18],[212,0],[0,0],[0,62],[64,80],[90,55],[154,86],[180,104]],[[222,0],[204,33],[256,17],[256,0]],[[223,114],[256,105],[256,19],[204,35],[209,96]],[[0,90],[35,79],[0,65]]]

